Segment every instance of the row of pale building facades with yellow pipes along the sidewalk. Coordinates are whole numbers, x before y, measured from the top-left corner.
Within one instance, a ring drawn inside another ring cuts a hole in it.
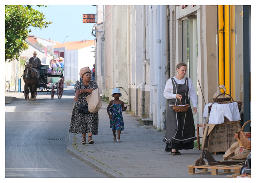
[[[219,85],[242,101],[241,115],[250,120],[250,6],[113,5],[102,11],[104,74],[97,82],[110,100],[113,88],[127,87],[122,99],[130,110],[165,129],[165,83],[184,62],[198,96],[195,125]]]

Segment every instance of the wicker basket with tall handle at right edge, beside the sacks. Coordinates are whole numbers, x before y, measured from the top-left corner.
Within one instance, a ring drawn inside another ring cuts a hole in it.
[[[244,126],[250,122],[251,122],[251,120],[244,123],[241,130],[239,130],[238,133],[235,133],[235,137],[238,140],[239,146],[243,147],[245,149],[248,149],[248,150],[251,149],[251,141],[248,139],[248,138],[251,138],[251,132],[244,132]]]

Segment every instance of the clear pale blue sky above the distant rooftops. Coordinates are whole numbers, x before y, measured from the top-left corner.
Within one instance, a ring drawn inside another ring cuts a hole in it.
[[[52,22],[48,28],[31,28],[32,35],[43,39],[51,39],[63,43],[68,41],[93,40],[90,33],[94,23],[83,23],[83,14],[97,14],[96,6],[92,5],[48,5],[47,7],[33,6],[45,16],[47,22]]]

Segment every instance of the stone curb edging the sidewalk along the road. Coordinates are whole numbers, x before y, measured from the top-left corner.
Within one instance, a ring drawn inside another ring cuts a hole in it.
[[[104,175],[106,175],[109,178],[124,178],[124,176],[120,175],[119,173],[116,173],[112,169],[102,165],[98,161],[95,161],[94,159],[88,157],[84,153],[74,149],[72,146],[74,136],[72,136],[72,135],[74,135],[74,134],[69,133],[68,146],[67,146],[67,150],[66,150],[67,153],[80,159],[81,161],[83,161],[84,163],[93,167],[94,169],[98,169],[98,171],[100,171],[101,173],[103,173]]]

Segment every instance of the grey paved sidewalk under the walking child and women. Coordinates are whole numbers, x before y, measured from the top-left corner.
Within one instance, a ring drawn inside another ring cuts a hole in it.
[[[108,104],[102,102],[99,111],[98,135],[93,135],[94,144],[81,144],[81,134],[71,134],[67,152],[90,164],[108,177],[156,177],[156,178],[223,178],[226,175],[208,173],[188,174],[188,165],[194,165],[200,158],[198,149],[180,150],[182,155],[170,155],[164,152],[162,139],[165,130],[157,130],[154,126],[142,126],[140,117],[123,112],[124,131],[121,142],[113,142],[112,129],[106,112]],[[88,140],[88,134],[86,134]],[[216,161],[223,160],[223,154],[213,155]],[[205,160],[207,163],[207,160]],[[196,169],[196,172],[200,171]]]

